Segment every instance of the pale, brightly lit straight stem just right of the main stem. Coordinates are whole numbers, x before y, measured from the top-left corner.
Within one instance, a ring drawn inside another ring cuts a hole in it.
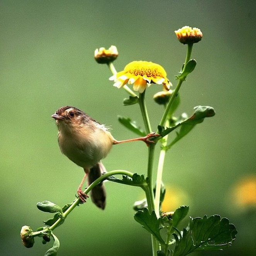
[[[165,122],[165,127],[169,127],[169,126],[170,126],[170,121],[169,121],[169,119],[167,119]],[[158,168],[157,168],[157,174],[156,174],[156,195],[155,195],[155,201],[154,201],[157,218],[160,218],[160,194],[161,194],[164,158],[165,158],[165,154],[166,154],[168,135],[166,135],[162,140],[163,140],[162,149],[159,154]]]

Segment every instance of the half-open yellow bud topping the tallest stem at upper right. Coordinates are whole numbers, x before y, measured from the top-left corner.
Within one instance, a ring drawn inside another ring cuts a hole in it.
[[[194,44],[202,39],[202,32],[197,27],[182,27],[181,29],[174,31],[178,40],[182,44]]]

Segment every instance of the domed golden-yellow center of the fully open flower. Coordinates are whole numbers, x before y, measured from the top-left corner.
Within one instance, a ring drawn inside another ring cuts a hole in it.
[[[165,70],[160,65],[148,61],[132,61],[125,66],[124,70],[135,76],[153,78],[166,76]]]

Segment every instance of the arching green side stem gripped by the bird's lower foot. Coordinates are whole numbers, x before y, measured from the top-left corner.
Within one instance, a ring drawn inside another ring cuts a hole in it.
[[[86,190],[84,191],[85,194],[88,194],[92,188],[94,188],[96,185],[98,185],[98,183],[102,182],[103,180],[105,180],[107,177],[112,176],[112,175],[125,175],[125,176],[129,176],[132,178],[133,173],[131,173],[130,171],[125,171],[125,170],[114,170],[114,171],[109,171],[107,173],[104,173],[102,176],[100,176],[99,178],[97,178],[97,180],[93,181],[92,184],[90,184],[90,186],[88,186],[88,188],[86,188]],[[47,227],[46,229],[43,229],[41,231],[36,231],[36,232],[32,232],[32,236],[38,236],[41,233],[44,232],[49,232],[49,231],[53,231],[56,227],[58,227],[58,225],[63,222],[64,219],[66,219],[66,217],[68,216],[68,214],[70,214],[76,206],[78,206],[81,203],[79,198],[76,198],[76,200],[70,205],[70,207],[68,207],[68,209],[63,213],[63,215],[56,220],[56,222],[51,225],[51,227]]]

